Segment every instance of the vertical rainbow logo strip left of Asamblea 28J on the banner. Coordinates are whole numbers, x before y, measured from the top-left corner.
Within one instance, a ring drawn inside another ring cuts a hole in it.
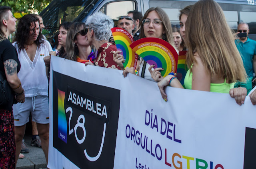
[[[64,108],[65,92],[58,89],[58,137],[67,143],[67,120]]]

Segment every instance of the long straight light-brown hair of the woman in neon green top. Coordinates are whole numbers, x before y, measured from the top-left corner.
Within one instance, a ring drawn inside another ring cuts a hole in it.
[[[192,6],[185,32],[186,61],[190,70],[197,52],[212,77],[226,78],[228,83],[246,80],[234,37],[222,9],[214,0],[199,0]]]

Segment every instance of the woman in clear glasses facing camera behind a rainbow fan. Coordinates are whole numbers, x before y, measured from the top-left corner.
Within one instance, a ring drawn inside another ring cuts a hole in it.
[[[140,38],[160,38],[175,48],[169,17],[161,8],[152,7],[148,9],[142,18],[142,22],[140,22],[140,29]],[[122,70],[124,70],[124,56],[120,53],[120,51],[114,53],[114,61],[122,68]],[[140,67],[138,68],[138,76],[153,82],[159,82],[163,79],[159,71],[163,69],[156,68],[152,70],[153,67],[154,65],[150,66],[141,58]],[[126,77],[129,72],[136,74],[134,68],[128,68],[123,72],[124,77]]]

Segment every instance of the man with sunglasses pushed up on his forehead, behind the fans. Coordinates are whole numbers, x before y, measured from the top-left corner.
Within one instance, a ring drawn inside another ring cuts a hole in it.
[[[126,30],[133,38],[132,30],[134,29],[134,22],[130,16],[119,16],[117,27]]]

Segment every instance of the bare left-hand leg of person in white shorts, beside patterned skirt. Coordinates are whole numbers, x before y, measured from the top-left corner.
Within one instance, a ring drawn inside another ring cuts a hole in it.
[[[25,134],[26,124],[22,126],[14,126],[14,135],[15,135],[15,142],[16,142],[16,157],[15,157],[15,166],[18,161],[18,157],[21,150],[21,142]]]

